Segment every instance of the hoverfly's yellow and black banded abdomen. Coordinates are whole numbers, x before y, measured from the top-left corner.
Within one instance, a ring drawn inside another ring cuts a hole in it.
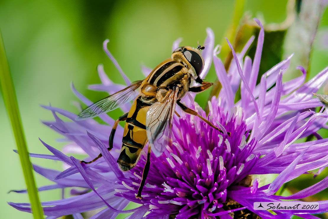
[[[138,162],[142,148],[147,143],[146,113],[150,103],[142,101],[141,96],[133,101],[124,125],[122,149],[117,159],[123,171],[132,169]]]

